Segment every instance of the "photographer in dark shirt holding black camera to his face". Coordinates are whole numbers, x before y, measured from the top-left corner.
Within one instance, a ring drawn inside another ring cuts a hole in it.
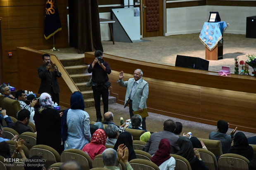
[[[106,113],[109,110],[109,87],[111,85],[107,74],[111,73],[111,68],[109,64],[102,59],[102,51],[96,50],[94,55],[95,59],[88,67],[88,73],[92,73],[92,90],[97,117],[96,122],[101,122],[100,96],[102,96],[104,113]]]

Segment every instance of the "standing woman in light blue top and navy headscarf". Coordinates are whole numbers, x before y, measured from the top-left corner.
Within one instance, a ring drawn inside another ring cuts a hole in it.
[[[64,150],[82,149],[91,141],[90,117],[84,111],[85,104],[81,92],[73,92],[70,108],[62,115],[62,140]]]

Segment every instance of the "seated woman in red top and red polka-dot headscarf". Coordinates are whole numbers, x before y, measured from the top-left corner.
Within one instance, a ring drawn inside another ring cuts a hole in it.
[[[83,152],[86,152],[93,161],[95,156],[102,154],[102,152],[106,149],[106,140],[107,135],[105,131],[102,129],[97,129],[92,135],[91,142],[86,144],[82,150]]]

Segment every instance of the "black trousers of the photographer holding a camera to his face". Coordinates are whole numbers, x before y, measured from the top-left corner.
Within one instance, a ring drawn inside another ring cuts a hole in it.
[[[95,102],[95,109],[96,109],[96,117],[97,119],[102,119],[102,115],[100,112],[100,96],[102,96],[103,102],[103,110],[104,113],[109,111],[109,89],[104,88],[103,86],[93,87],[93,98]],[[104,114],[103,113],[103,114]]]

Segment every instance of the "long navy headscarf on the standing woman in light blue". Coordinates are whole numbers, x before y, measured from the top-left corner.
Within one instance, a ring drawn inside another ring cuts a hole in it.
[[[81,92],[73,92],[70,97],[70,108],[71,109],[81,109],[85,110],[85,103],[83,99],[83,94]],[[62,115],[62,141],[65,142],[68,136],[68,126],[66,124],[66,116],[69,109],[66,109]]]

